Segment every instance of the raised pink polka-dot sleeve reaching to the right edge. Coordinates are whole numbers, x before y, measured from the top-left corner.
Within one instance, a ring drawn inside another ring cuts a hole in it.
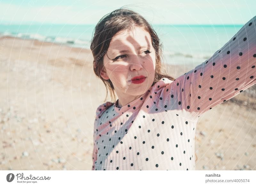
[[[256,16],[211,58],[164,87],[157,105],[196,120],[202,113],[254,85],[255,27]]]

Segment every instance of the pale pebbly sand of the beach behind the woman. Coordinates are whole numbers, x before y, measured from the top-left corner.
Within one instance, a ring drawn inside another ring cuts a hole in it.
[[[91,170],[106,89],[90,50],[0,37],[1,170]],[[202,61],[203,62],[203,61]],[[167,66],[177,78],[195,66]],[[196,170],[256,170],[256,86],[199,117]]]

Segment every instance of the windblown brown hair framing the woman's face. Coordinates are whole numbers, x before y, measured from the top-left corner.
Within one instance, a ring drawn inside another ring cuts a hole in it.
[[[116,101],[114,86],[108,79],[105,80],[100,76],[100,72],[105,68],[103,65],[103,56],[107,53],[112,37],[119,31],[131,30],[132,27],[138,26],[144,28],[151,36],[152,45],[156,51],[156,70],[152,86],[161,78],[175,80],[172,76],[161,73],[162,43],[153,29],[153,27],[140,14],[127,8],[120,8],[103,16],[94,28],[94,35],[91,41],[91,50],[94,58],[94,73],[103,81],[107,89],[110,90],[111,98]]]

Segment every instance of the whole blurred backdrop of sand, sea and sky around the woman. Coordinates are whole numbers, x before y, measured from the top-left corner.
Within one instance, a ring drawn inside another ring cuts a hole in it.
[[[90,41],[104,15],[144,16],[177,78],[255,16],[255,1],[0,1],[0,169],[91,170],[93,123],[106,89]],[[108,99],[107,101],[110,101]],[[201,115],[196,170],[256,170],[256,88]]]

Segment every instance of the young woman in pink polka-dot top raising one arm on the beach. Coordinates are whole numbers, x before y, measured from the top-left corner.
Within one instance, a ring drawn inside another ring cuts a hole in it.
[[[195,170],[198,117],[256,83],[256,16],[211,58],[174,79],[138,13],[118,9],[95,27],[93,70],[118,99],[96,111],[92,170]]]

